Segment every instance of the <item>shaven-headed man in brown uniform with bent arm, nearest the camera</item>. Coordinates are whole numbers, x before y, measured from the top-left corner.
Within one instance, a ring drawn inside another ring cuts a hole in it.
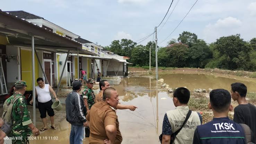
[[[90,144],[104,144],[109,139],[110,144],[121,144],[122,135],[116,115],[118,93],[114,88],[107,88],[103,92],[103,101],[95,103],[86,116],[90,127]]]

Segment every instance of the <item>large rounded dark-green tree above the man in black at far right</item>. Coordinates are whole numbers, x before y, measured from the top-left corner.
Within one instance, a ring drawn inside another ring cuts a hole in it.
[[[222,67],[230,70],[247,70],[249,68],[251,47],[244,39],[240,38],[240,34],[220,37],[216,41],[216,50],[220,52],[220,56],[225,57]]]

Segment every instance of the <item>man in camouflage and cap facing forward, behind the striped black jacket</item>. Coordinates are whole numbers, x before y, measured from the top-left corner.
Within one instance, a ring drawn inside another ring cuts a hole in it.
[[[94,79],[86,80],[86,87],[83,91],[84,105],[85,105],[87,114],[91,109],[92,105],[94,104],[95,95],[92,90],[94,83],[95,83]]]

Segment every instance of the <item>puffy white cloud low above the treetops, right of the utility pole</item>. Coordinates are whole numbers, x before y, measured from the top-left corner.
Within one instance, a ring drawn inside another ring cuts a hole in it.
[[[242,22],[233,17],[219,19],[215,24],[208,24],[203,30],[204,39],[213,42],[222,36],[241,33]]]

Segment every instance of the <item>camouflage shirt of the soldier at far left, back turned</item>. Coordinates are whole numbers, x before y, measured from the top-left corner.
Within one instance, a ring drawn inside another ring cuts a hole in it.
[[[30,113],[27,109],[26,98],[21,93],[14,93],[7,99],[7,103],[10,103],[14,97],[22,96],[19,98],[12,107],[12,129],[9,137],[23,137],[22,140],[12,139],[12,143],[27,143],[27,137],[32,135],[32,130],[27,126],[31,124]]]

